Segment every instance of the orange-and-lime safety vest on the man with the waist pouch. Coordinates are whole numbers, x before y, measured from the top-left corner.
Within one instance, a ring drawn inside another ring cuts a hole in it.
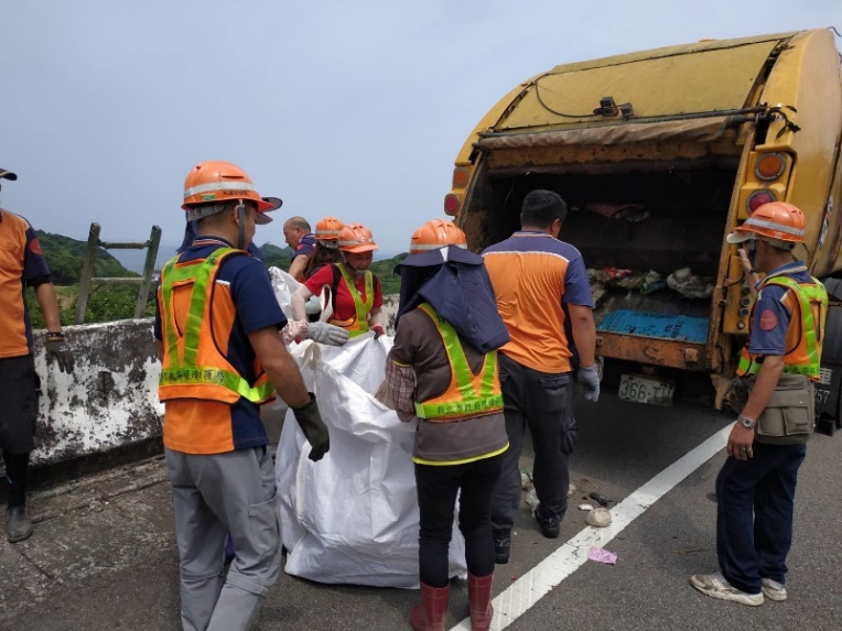
[[[760,289],[766,285],[779,285],[791,290],[797,296],[801,318],[800,322],[796,322],[795,317],[791,318],[789,326],[799,326],[801,328],[800,342],[795,348],[786,349],[784,355],[784,372],[803,374],[812,380],[818,380],[821,371],[822,331],[824,330],[824,320],[828,314],[828,292],[819,281],[816,279],[812,279],[812,281],[814,284],[808,285],[800,284],[789,276],[770,276],[764,280]],[[819,306],[820,315],[818,323],[813,315],[813,305]],[[752,307],[752,320],[754,320],[754,307]],[[737,374],[756,374],[759,369],[760,365],[748,352],[748,347],[744,347],[740,353]]]

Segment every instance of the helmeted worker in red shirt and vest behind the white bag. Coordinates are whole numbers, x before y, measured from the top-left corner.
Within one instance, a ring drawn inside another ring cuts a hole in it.
[[[305,324],[305,304],[323,287],[330,287],[333,315],[327,320],[357,337],[374,331],[384,335],[382,290],[380,280],[368,269],[377,250],[371,230],[361,224],[346,224],[338,236],[342,263],[322,266],[292,294],[292,317],[296,326]]]

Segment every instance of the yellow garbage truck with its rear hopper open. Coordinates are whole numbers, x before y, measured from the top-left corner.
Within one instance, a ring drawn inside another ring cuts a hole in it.
[[[842,275],[841,134],[831,30],[564,64],[479,121],[444,210],[481,251],[518,229],[529,191],[561,194],[561,238],[598,292],[597,352],[641,373],[624,377],[622,398],[658,403],[671,390],[657,367],[733,374],[753,298],[725,235],[759,205],[801,208],[807,242],[796,255],[817,278]],[[829,323],[825,360],[842,365],[842,316]],[[825,371],[818,395],[834,417],[840,378]]]

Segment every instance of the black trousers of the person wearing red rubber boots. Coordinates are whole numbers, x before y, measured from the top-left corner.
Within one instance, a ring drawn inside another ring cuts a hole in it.
[[[447,551],[453,534],[453,510],[458,502],[458,527],[465,537],[465,561],[474,576],[494,572],[489,503],[500,475],[503,455],[464,465],[418,465],[415,486],[421,513],[419,573],[421,583],[446,587]]]

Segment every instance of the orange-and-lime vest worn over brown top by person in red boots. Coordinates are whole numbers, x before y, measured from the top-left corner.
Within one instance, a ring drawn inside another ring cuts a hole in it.
[[[415,402],[415,416],[447,423],[465,416],[500,412],[503,394],[497,374],[497,351],[486,352],[482,370],[474,374],[453,326],[435,313],[429,303],[423,303],[418,308],[430,316],[442,336],[451,365],[451,383],[443,394],[421,403]]]

